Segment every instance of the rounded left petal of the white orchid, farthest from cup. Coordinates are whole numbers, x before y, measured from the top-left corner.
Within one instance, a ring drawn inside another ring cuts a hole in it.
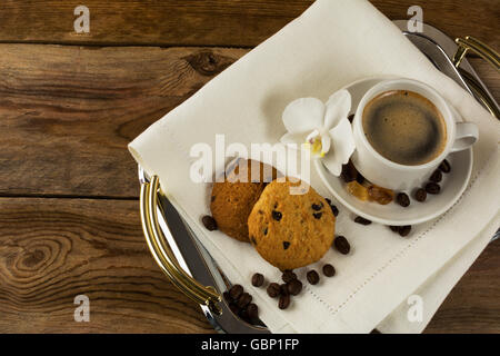
[[[311,131],[323,126],[324,103],[317,98],[300,98],[290,102],[282,120],[290,134]]]

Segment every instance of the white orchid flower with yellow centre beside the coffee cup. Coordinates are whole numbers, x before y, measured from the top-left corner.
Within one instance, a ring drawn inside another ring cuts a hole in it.
[[[282,120],[288,132],[281,142],[298,147],[307,144],[313,157],[338,177],[356,148],[348,120],[350,110],[351,95],[347,90],[334,92],[326,105],[317,98],[297,99],[284,108]]]

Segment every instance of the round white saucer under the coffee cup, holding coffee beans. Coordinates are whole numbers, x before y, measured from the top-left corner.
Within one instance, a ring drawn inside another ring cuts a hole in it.
[[[356,111],[364,92],[384,79],[387,78],[369,78],[347,86],[344,89],[349,90],[352,97],[351,112]],[[451,208],[466,190],[472,172],[472,148],[451,154],[447,160],[451,165],[451,172],[442,175],[443,179],[439,184],[441,192],[428,195],[424,202],[419,202],[412,197],[412,192],[407,191],[411,200],[407,208],[396,201],[388,205],[361,201],[347,191],[343,180],[330,174],[320,159],[314,160],[314,167],[330,192],[349,210],[376,222],[401,226],[424,222],[440,216]]]

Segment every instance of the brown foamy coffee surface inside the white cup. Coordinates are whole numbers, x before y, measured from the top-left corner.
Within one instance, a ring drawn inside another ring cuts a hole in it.
[[[409,90],[390,90],[371,99],[362,126],[373,149],[400,165],[427,164],[447,144],[442,113],[429,99]]]

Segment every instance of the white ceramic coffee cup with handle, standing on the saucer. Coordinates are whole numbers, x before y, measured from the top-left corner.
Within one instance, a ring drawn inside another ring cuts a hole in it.
[[[413,91],[429,99],[441,112],[447,138],[442,152],[423,165],[406,166],[389,160],[368,141],[362,125],[362,116],[366,105],[378,95],[390,90]],[[458,122],[461,118],[434,89],[412,79],[392,79],[377,83],[362,97],[352,121],[356,151],[352,155],[352,164],[370,182],[393,190],[409,190],[420,187],[429,179],[432,171],[454,151],[471,147],[479,137],[478,127],[470,122]]]

